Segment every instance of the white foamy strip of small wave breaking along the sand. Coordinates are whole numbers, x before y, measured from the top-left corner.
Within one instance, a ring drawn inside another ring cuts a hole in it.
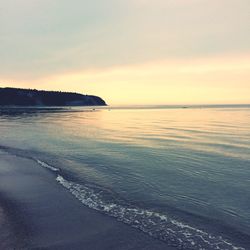
[[[61,175],[58,175],[56,180],[89,208],[115,217],[117,220],[140,229],[151,237],[178,247],[178,249],[245,250],[245,248],[234,246],[221,236],[209,234],[174,220],[165,214],[105,201],[102,192],[67,181]]]

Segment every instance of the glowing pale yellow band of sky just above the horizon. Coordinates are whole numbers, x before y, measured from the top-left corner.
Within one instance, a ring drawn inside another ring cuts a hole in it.
[[[250,56],[155,61],[72,71],[11,86],[74,90],[102,96],[108,104],[250,103]]]

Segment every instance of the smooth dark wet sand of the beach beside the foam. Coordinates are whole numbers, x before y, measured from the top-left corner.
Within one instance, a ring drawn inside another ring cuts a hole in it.
[[[83,206],[55,181],[53,173],[32,160],[3,152],[0,242],[0,249],[174,249]]]

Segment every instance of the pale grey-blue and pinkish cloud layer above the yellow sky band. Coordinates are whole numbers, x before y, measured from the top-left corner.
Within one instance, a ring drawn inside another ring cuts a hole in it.
[[[248,53],[246,0],[10,0],[0,75],[19,80],[155,60]]]

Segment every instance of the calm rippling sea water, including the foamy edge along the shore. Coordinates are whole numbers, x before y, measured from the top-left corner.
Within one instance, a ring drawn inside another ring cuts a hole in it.
[[[0,149],[178,249],[250,249],[250,106],[1,108]]]

